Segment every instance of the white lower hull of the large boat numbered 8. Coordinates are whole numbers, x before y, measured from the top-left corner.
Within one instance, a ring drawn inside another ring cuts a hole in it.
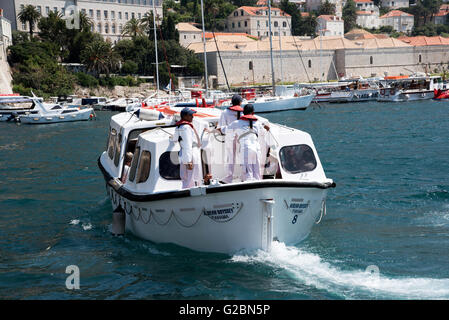
[[[323,187],[263,181],[233,188],[200,187],[160,200],[127,197],[109,184],[107,192],[114,210],[125,212],[126,230],[137,237],[227,254],[269,250],[273,240],[302,241],[320,220],[327,194]]]

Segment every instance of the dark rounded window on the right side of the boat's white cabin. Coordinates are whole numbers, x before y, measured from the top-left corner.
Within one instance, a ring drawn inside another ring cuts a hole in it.
[[[283,147],[279,155],[282,167],[289,173],[313,171],[317,165],[312,148],[305,144]]]

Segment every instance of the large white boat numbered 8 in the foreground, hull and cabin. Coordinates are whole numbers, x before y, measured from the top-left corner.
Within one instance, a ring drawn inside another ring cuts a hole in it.
[[[261,164],[269,168],[264,179],[241,182],[236,165],[233,182],[220,184],[225,176],[224,144],[221,136],[204,132],[202,170],[212,180],[182,189],[179,143],[169,139],[181,108],[143,110],[140,117],[111,117],[107,150],[98,159],[114,209],[114,233],[126,230],[156,243],[232,254],[270,250],[273,240],[296,244],[325,215],[327,190],[335,183],[326,177],[308,133],[269,124],[269,149],[261,151]],[[217,126],[221,110],[196,110],[193,124],[198,132]],[[122,182],[127,152],[134,157]]]

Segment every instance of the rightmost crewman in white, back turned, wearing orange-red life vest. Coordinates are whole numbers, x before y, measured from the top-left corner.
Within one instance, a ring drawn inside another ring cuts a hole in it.
[[[247,104],[243,109],[243,116],[231,123],[226,132],[237,140],[237,163],[242,168],[242,181],[261,180],[260,142],[262,130],[270,130],[254,116],[254,106]]]

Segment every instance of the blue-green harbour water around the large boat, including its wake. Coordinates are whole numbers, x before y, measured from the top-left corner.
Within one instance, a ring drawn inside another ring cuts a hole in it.
[[[337,188],[304,242],[232,257],[110,235],[98,116],[0,123],[0,299],[449,299],[448,102],[266,115],[312,135]]]

